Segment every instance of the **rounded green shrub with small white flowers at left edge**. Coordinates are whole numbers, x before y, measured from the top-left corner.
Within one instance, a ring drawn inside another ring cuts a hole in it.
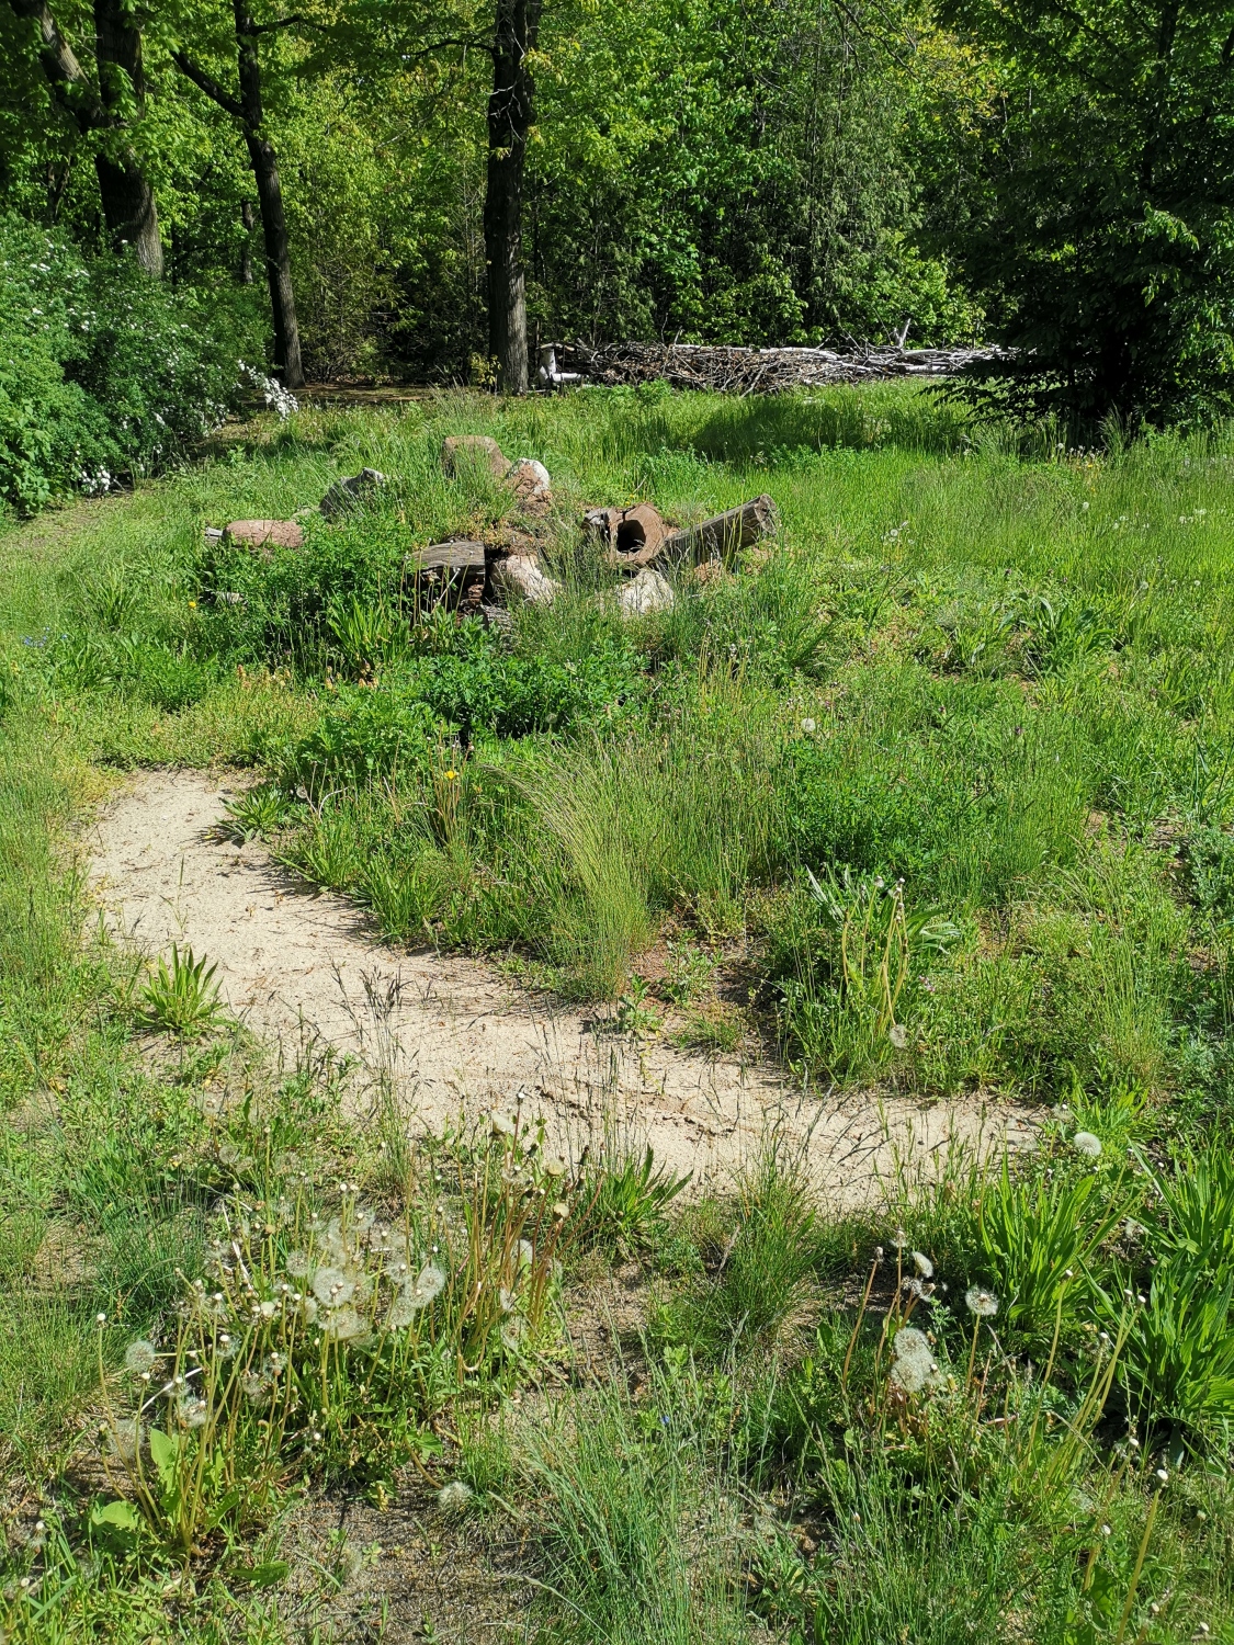
[[[0,219],[0,502],[35,513],[174,462],[235,405],[252,301]]]

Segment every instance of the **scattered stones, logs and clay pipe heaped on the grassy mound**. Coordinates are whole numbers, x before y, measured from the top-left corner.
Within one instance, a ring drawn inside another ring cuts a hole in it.
[[[495,439],[480,434],[446,439],[441,464],[446,474],[466,472],[467,466],[487,470],[508,487],[517,508],[490,541],[451,538],[408,554],[405,572],[420,607],[444,604],[505,623],[508,605],[520,600],[551,605],[561,584],[540,566],[546,517],[553,505],[553,487],[545,466],[531,457],[510,462]],[[321,513],[327,520],[337,520],[387,484],[387,477],[377,469],[362,469],[350,479],[336,480],[321,502]],[[232,520],[220,530],[207,526],[206,540],[271,559],[278,548],[303,548],[299,520],[313,512],[303,508],[293,520]],[[619,572],[617,609],[630,617],[671,609],[675,594],[666,571],[732,566],[742,549],[772,535],[777,525],[775,503],[767,495],[680,528],[663,520],[652,503],[589,508],[581,520],[582,541],[605,566]],[[240,595],[224,592],[214,599],[234,604]]]

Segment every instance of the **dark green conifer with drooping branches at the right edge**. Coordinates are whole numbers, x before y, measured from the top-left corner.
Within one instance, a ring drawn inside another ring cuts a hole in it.
[[[939,242],[1014,350],[979,401],[1204,421],[1234,406],[1234,5],[946,0],[1000,61]],[[976,186],[974,186],[976,183]]]

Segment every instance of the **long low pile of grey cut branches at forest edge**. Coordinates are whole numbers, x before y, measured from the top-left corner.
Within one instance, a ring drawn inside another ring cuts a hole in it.
[[[691,342],[553,344],[554,362],[587,383],[665,382],[673,388],[706,388],[724,395],[772,395],[824,383],[865,383],[892,377],[956,377],[994,349],[905,349],[861,344],[834,349],[737,349]],[[558,373],[561,375],[561,373]]]

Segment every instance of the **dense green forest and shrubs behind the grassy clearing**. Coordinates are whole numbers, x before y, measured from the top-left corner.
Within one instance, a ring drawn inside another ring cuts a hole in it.
[[[986,411],[1213,421],[1232,74],[1209,0],[8,0],[0,495],[165,464],[242,359],[522,392],[576,337],[908,324],[1009,347]]]

